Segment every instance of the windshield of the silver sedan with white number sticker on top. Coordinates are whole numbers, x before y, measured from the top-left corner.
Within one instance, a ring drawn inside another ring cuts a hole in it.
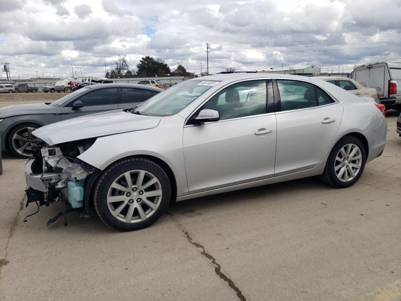
[[[150,100],[135,108],[135,111],[139,111],[142,115],[150,116],[177,114],[217,83],[217,81],[207,82],[201,80],[183,81],[150,98]]]

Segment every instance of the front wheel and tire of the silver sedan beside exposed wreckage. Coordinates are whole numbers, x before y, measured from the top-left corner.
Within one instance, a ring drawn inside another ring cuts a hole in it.
[[[99,177],[93,194],[101,220],[116,230],[149,227],[166,211],[170,181],[153,161],[135,157],[109,166]]]

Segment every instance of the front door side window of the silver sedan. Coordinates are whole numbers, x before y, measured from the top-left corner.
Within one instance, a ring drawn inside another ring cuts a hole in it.
[[[213,96],[201,110],[216,110],[220,120],[265,114],[266,91],[265,80],[236,83]]]

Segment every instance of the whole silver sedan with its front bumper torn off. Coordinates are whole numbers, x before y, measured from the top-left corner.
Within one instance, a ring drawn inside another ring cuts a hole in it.
[[[385,108],[320,79],[237,73],[191,79],[143,104],[33,132],[28,203],[62,200],[118,230],[170,201],[319,175],[346,188],[383,153]]]

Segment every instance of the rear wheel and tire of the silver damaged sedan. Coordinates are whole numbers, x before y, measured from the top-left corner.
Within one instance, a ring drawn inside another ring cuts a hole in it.
[[[356,183],[365,169],[366,150],[354,136],[342,137],[333,147],[320,179],[336,188],[347,188]]]

